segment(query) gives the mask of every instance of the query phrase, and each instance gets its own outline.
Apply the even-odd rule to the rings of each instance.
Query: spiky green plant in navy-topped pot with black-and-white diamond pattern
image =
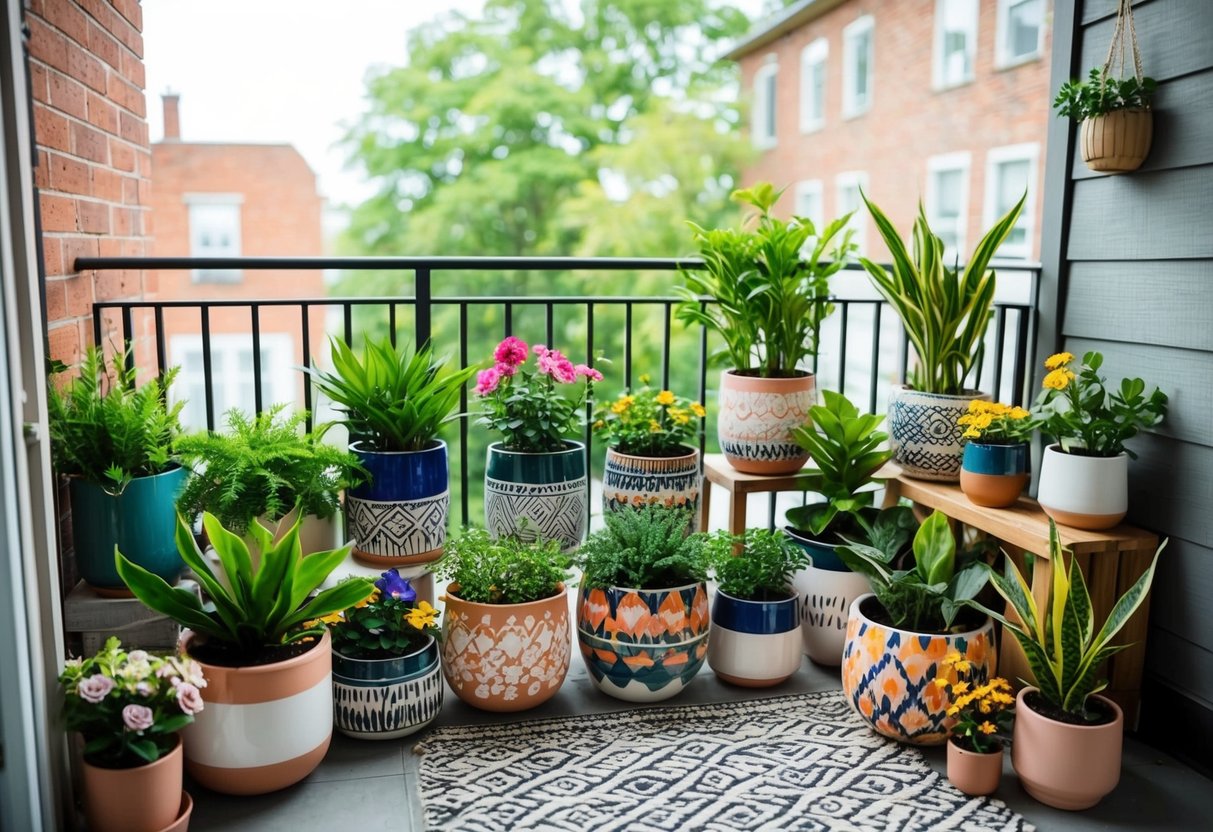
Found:
[[[370,480],[346,494],[354,558],[371,566],[412,566],[442,557],[450,512],[450,466],[438,431],[451,418],[475,367],[446,372],[427,344],[410,355],[388,338],[361,359],[332,338],[332,372],[307,370],[344,411],[349,449]]]

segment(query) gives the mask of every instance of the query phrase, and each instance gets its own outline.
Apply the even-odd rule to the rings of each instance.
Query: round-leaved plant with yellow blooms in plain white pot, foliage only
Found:
[[[1157,387],[1147,397],[1140,378],[1122,378],[1118,391],[1109,391],[1099,375],[1104,357],[1089,352],[1078,372],[1070,369],[1074,355],[1049,355],[1044,389],[1032,405],[1041,431],[1057,439],[1065,454],[1117,456],[1137,454],[1124,443],[1143,428],[1160,424],[1167,416],[1167,394]]]

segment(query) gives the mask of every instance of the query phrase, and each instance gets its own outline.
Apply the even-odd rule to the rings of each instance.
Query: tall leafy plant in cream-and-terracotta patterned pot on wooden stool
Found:
[[[821,321],[833,312],[830,278],[855,249],[853,232],[836,239],[849,213],[820,233],[804,217],[771,216],[782,193],[768,182],[733,192],[734,201],[757,209],[741,228],[689,223],[704,268],[684,272],[679,290],[679,319],[724,338],[712,357],[731,365],[721,376],[721,450],[752,474],[792,473],[808,458],[788,435],[815,398],[814,375],[799,364],[816,354]]]

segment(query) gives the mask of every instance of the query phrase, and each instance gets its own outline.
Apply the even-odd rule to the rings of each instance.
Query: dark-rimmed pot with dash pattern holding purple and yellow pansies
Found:
[[[420,731],[443,707],[438,643],[394,659],[332,651],[332,724],[357,740],[394,740]]]

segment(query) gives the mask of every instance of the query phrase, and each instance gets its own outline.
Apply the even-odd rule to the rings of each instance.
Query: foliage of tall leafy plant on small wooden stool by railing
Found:
[[[795,376],[797,364],[816,354],[821,321],[833,312],[830,278],[855,250],[854,232],[843,232],[849,213],[819,233],[805,217],[771,216],[782,193],[769,182],[733,192],[734,201],[757,209],[740,228],[689,222],[704,268],[683,272],[678,290],[679,320],[724,338],[712,361],[764,378]],[[813,237],[811,251],[802,253]]]

